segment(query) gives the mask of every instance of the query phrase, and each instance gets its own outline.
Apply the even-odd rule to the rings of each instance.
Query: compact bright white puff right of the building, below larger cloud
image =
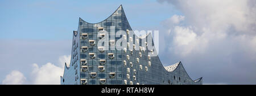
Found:
[[[170,50],[174,51],[175,54],[186,56],[192,51],[202,53],[205,50],[205,46],[207,46],[208,41],[197,36],[191,27],[176,26],[174,27],[173,32],[173,46]],[[200,49],[198,46],[200,46]]]

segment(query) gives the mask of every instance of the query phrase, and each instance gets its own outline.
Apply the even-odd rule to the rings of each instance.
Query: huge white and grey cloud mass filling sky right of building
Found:
[[[192,77],[198,73],[209,84],[256,83],[251,74],[256,72],[254,0],[158,1],[174,5],[184,15],[162,24],[167,28],[165,40],[172,40],[167,45],[172,59],[188,63]]]

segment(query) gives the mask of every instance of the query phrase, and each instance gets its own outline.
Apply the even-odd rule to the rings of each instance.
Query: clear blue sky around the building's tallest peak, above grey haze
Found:
[[[71,30],[77,29],[79,18],[90,23],[100,22],[121,4],[125,4],[127,18],[134,28],[150,28],[178,14],[178,11],[167,12],[171,6],[156,1],[1,1],[0,38],[70,40]]]

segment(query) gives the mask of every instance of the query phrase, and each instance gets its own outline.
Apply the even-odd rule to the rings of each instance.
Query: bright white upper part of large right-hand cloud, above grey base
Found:
[[[159,2],[164,1],[159,0]],[[202,50],[213,46],[209,43],[219,43],[225,40],[237,41],[239,42],[237,45],[250,47],[250,51],[255,53],[255,1],[185,0],[167,2],[176,6],[184,14],[184,16],[173,15],[163,21],[163,24],[169,28],[166,32],[168,35],[172,34],[174,40],[171,51],[179,49],[175,51],[177,53],[188,51],[186,54],[189,55],[189,50]],[[184,24],[180,25],[180,21],[184,21]],[[242,38],[242,40],[237,38]],[[250,45],[246,42],[249,42]],[[179,47],[180,45],[183,47]]]

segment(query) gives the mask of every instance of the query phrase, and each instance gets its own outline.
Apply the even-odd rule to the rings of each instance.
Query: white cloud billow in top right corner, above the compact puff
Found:
[[[163,2],[165,0],[159,0]],[[254,0],[195,0],[167,1],[181,10],[187,23],[213,32],[226,32],[230,27],[237,32],[255,34],[256,6]],[[250,6],[251,5],[251,6]]]

